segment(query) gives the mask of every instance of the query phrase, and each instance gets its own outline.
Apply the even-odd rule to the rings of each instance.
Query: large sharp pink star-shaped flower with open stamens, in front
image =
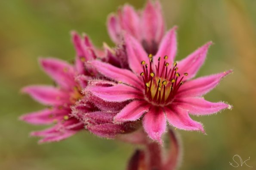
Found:
[[[174,62],[176,27],[167,32],[154,56],[147,55],[142,45],[128,33],[125,34],[125,44],[132,71],[101,61],[89,62],[99,73],[118,84],[89,86],[88,93],[106,102],[130,102],[117,113],[114,122],[137,121],[143,117],[142,124],[148,136],[162,143],[167,121],[179,129],[204,133],[203,125],[192,120],[189,113],[208,115],[231,109],[226,103],[212,103],[202,97],[231,70],[191,80],[204,63],[211,42],[179,62]]]

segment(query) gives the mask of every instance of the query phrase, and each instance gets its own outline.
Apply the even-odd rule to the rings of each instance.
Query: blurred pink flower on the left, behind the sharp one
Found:
[[[49,129],[31,133],[32,136],[43,138],[39,143],[63,140],[83,129],[83,121],[71,115],[71,106],[80,100],[83,96],[81,90],[96,73],[93,68],[84,67],[85,61],[94,60],[102,56],[103,52],[93,47],[88,36],[81,39],[75,32],[72,32],[72,36],[77,52],[74,65],[54,58],[40,59],[43,70],[56,82],[57,87],[31,85],[22,89],[34,100],[50,106],[20,117],[21,120],[31,124],[54,124]],[[97,108],[90,103],[86,104],[86,109],[88,112],[97,111]]]

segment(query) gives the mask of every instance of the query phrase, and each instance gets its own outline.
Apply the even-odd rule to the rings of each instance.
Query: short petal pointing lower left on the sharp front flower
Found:
[[[145,112],[148,112],[149,104],[145,101],[134,100],[127,104],[117,115],[114,117],[114,121],[136,121]]]

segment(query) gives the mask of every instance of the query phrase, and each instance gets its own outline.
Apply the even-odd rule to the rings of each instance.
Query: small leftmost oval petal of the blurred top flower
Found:
[[[108,16],[107,21],[108,34],[114,43],[119,43],[121,40],[121,28],[117,17],[114,14]]]

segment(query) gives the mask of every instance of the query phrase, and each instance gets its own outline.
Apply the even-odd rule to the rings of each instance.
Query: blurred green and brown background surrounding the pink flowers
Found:
[[[0,1],[0,169],[124,170],[133,146],[81,132],[59,143],[37,144],[28,137],[43,129],[18,121],[43,106],[20,89],[52,84],[37,58],[74,58],[70,31],[87,33],[96,46],[111,46],[105,23],[108,13],[125,0]],[[161,0],[167,28],[178,25],[181,59],[212,40],[198,76],[234,69],[205,98],[234,106],[217,115],[193,117],[208,135],[179,131],[183,140],[180,170],[250,170],[256,168],[256,0]],[[137,9],[144,0],[130,0]],[[231,167],[238,154],[253,168]],[[239,160],[237,159],[237,162]],[[235,164],[236,165],[236,164]]]

